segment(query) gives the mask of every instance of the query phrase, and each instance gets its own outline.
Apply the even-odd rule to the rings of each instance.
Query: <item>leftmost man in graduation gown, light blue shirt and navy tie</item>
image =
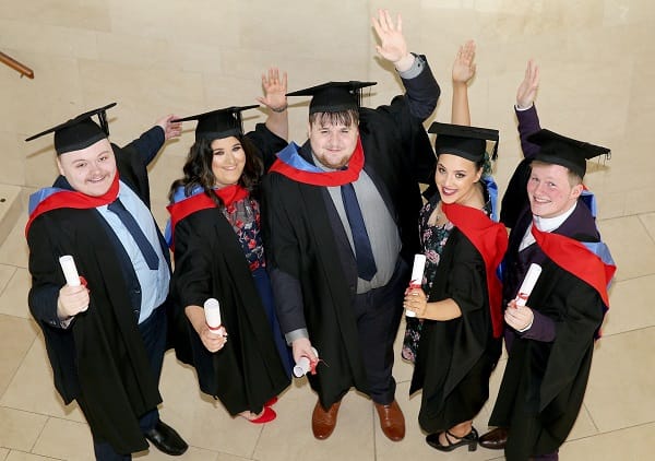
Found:
[[[147,449],[146,439],[182,454],[187,444],[157,410],[170,264],[150,212],[146,169],[181,127],[165,117],[121,149],[107,138],[114,105],[31,138],[55,132],[61,176],[29,199],[29,311],[44,332],[55,387],[64,403],[80,404],[96,459],[131,459]],[[58,260],[64,255],[83,284],[67,284]]]

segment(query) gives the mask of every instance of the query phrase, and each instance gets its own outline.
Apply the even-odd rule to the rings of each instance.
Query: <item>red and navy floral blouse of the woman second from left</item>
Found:
[[[261,236],[261,213],[260,205],[257,200],[247,197],[243,200],[236,201],[228,206],[225,206],[223,214],[231,224],[250,271],[254,272],[259,268],[266,265],[264,260],[264,246]]]

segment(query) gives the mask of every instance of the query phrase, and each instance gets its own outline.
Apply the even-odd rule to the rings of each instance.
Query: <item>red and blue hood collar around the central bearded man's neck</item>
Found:
[[[359,178],[365,159],[361,138],[357,138],[357,145],[353,151],[347,168],[337,172],[323,172],[306,159],[301,151],[308,149],[307,145],[299,147],[295,142],[290,142],[277,154],[277,159],[269,172],[279,173],[297,182],[311,186],[342,186],[354,182]]]

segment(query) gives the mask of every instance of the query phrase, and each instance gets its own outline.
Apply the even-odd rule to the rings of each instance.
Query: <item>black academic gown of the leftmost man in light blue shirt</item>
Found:
[[[164,135],[154,128],[144,137],[112,149],[121,180],[150,205],[146,164]],[[63,177],[55,187],[70,189]],[[122,454],[147,449],[139,418],[162,398],[138,328],[139,283],[127,252],[95,209],[64,208],[39,215],[27,244],[28,304],[44,332],[55,387],[67,404],[80,401],[94,438]],[[163,250],[168,256],[165,246]],[[66,285],[59,265],[63,255],[73,256],[91,289],[88,310],[68,329],[59,328],[57,318],[57,297]]]

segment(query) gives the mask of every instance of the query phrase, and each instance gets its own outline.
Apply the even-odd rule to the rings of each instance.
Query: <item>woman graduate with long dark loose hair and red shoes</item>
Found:
[[[241,111],[229,107],[180,120],[199,120],[184,177],[170,190],[171,294],[178,358],[195,367],[200,389],[231,415],[252,423],[275,418],[270,406],[290,382],[290,353],[277,322],[260,233],[259,185],[264,165],[286,146],[286,74],[263,79],[271,110],[243,133]],[[223,327],[205,322],[215,298]]]

